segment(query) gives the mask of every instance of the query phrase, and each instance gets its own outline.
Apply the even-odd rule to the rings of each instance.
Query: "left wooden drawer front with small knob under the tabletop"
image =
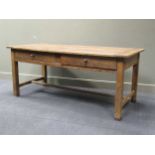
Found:
[[[60,56],[48,53],[15,52],[15,60],[36,64],[60,66]]]

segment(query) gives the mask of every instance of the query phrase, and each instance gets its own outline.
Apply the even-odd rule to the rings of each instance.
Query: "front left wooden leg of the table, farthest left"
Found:
[[[11,60],[12,60],[13,94],[14,96],[20,96],[18,62],[15,61],[14,59],[14,52],[11,52]]]

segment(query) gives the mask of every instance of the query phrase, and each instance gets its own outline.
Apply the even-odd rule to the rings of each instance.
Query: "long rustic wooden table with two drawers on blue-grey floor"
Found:
[[[8,48],[11,48],[13,93],[15,96],[20,95],[21,86],[30,83],[46,86],[47,66],[51,66],[116,72],[114,117],[117,120],[121,119],[124,105],[129,101],[136,102],[139,57],[140,52],[144,51],[141,48],[50,44],[16,45]],[[40,64],[42,77],[19,83],[18,62]],[[128,96],[123,96],[124,71],[129,67],[133,68],[131,92]]]

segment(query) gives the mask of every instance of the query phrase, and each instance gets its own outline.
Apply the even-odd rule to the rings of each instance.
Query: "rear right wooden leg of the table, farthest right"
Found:
[[[138,70],[139,70],[139,61],[136,65],[133,66],[132,70],[132,86],[131,91],[134,90],[134,95],[131,99],[132,102],[136,102],[137,97],[137,85],[138,85]]]

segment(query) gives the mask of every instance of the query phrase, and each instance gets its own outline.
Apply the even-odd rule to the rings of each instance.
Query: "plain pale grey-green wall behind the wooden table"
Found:
[[[10,52],[6,49],[10,44],[42,42],[140,47],[145,52],[140,59],[139,83],[154,86],[154,40],[155,20],[0,20],[0,75],[4,78],[11,72]],[[22,64],[20,72],[38,75],[40,68]],[[127,71],[126,81],[130,81],[130,73],[130,70]],[[115,79],[112,73],[69,69],[49,69],[49,74],[84,79]],[[73,81],[68,83],[73,84]],[[79,82],[77,84],[80,85]],[[87,82],[86,85],[98,84]]]

